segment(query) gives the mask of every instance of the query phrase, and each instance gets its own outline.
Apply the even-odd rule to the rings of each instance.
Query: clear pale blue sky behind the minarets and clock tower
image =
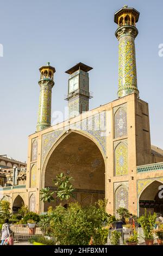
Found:
[[[162,0],[3,0],[0,8],[0,155],[27,160],[35,132],[39,67],[55,66],[52,112],[64,111],[68,75],[78,62],[93,67],[90,109],[117,98],[118,41],[114,13],[124,4],[140,11],[135,40],[140,97],[149,103],[151,141],[163,148]]]

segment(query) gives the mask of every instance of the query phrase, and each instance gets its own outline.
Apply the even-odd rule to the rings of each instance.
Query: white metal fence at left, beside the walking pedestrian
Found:
[[[37,235],[45,235],[48,230],[48,225],[36,224],[35,228],[29,228],[28,224],[12,224],[10,225],[12,237],[15,241],[27,241],[30,237]],[[2,231],[0,232],[1,235]]]

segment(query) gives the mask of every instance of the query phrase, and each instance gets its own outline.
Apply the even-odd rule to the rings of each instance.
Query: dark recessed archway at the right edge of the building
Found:
[[[145,212],[156,212],[163,214],[163,198],[160,197],[160,186],[163,185],[160,181],[154,180],[145,190],[142,191],[139,198],[139,215]]]

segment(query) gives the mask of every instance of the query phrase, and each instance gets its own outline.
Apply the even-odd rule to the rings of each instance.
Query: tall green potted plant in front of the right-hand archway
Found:
[[[154,236],[153,236],[153,228],[155,224],[156,213],[152,215],[150,212],[147,214],[147,210],[145,209],[145,214],[142,215],[138,222],[141,224],[143,229],[143,233],[145,235],[146,245],[153,245]]]

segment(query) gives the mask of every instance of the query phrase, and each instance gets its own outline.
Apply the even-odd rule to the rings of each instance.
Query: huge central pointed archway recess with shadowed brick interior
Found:
[[[73,177],[74,195],[79,203],[85,202],[85,206],[92,202],[92,198],[93,202],[104,198],[105,163],[103,155],[96,143],[84,134],[73,131],[66,133],[63,139],[60,138],[57,147],[54,145],[54,149],[47,157],[43,169],[42,187],[51,187],[51,190],[54,190],[52,179],[57,174],[64,173]],[[49,204],[42,205],[41,211],[47,211],[48,206]]]

